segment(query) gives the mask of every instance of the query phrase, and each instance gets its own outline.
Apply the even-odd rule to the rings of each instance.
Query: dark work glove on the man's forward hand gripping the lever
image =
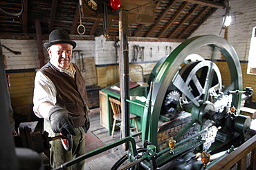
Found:
[[[55,133],[62,133],[67,136],[68,134],[76,135],[73,122],[68,115],[68,111],[60,106],[55,106],[50,109],[48,120],[51,121],[51,129]]]

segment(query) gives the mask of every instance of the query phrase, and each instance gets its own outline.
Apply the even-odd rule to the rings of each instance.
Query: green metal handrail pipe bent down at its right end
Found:
[[[86,153],[82,156],[79,156],[77,158],[75,158],[74,160],[71,160],[71,161],[68,161],[64,164],[62,164],[60,167],[57,167],[55,170],[57,169],[66,169],[66,167],[70,167],[71,165],[73,164],[76,164],[77,162],[80,162],[82,160],[85,160],[86,158],[90,158],[92,156],[95,156],[99,153],[102,153],[104,151],[107,151],[109,149],[112,149],[113,147],[117,147],[119,145],[122,145],[123,143],[126,143],[126,142],[131,142],[131,151],[133,153],[134,156],[138,155],[138,151],[136,149],[136,141],[133,137],[131,136],[128,136],[127,138],[122,138],[116,142],[113,142],[109,145],[105,145],[104,147],[100,147],[98,149],[95,149],[93,151],[90,151],[89,153]]]

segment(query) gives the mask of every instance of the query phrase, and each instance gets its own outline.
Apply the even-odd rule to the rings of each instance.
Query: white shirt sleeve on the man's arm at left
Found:
[[[33,111],[35,115],[39,118],[44,118],[43,114],[39,111],[39,106],[42,103],[52,103],[55,105],[56,103],[56,88],[53,82],[48,76],[38,71],[35,75],[35,88],[33,95]],[[44,113],[44,115],[48,115],[48,113]]]

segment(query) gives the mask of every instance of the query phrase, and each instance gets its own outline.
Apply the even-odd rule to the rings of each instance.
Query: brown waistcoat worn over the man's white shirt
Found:
[[[63,107],[73,120],[74,127],[82,127],[85,124],[89,129],[89,109],[87,107],[87,93],[84,78],[77,65],[75,67],[75,79],[64,72],[60,72],[51,63],[47,63],[40,71],[53,81],[57,89],[56,105]]]

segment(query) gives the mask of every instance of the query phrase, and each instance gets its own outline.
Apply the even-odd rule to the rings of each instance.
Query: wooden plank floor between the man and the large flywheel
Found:
[[[100,113],[98,109],[92,111],[90,120],[91,127],[85,137],[86,152],[93,151],[120,139],[120,131],[115,131],[114,137],[111,138],[111,136],[109,136],[108,130],[100,125]],[[138,140],[138,138],[135,139],[137,147],[142,147],[141,140]],[[104,153],[100,153],[96,156],[86,159],[85,169],[111,169],[113,164],[126,153],[127,151],[125,151],[122,145],[113,149],[109,149]]]

